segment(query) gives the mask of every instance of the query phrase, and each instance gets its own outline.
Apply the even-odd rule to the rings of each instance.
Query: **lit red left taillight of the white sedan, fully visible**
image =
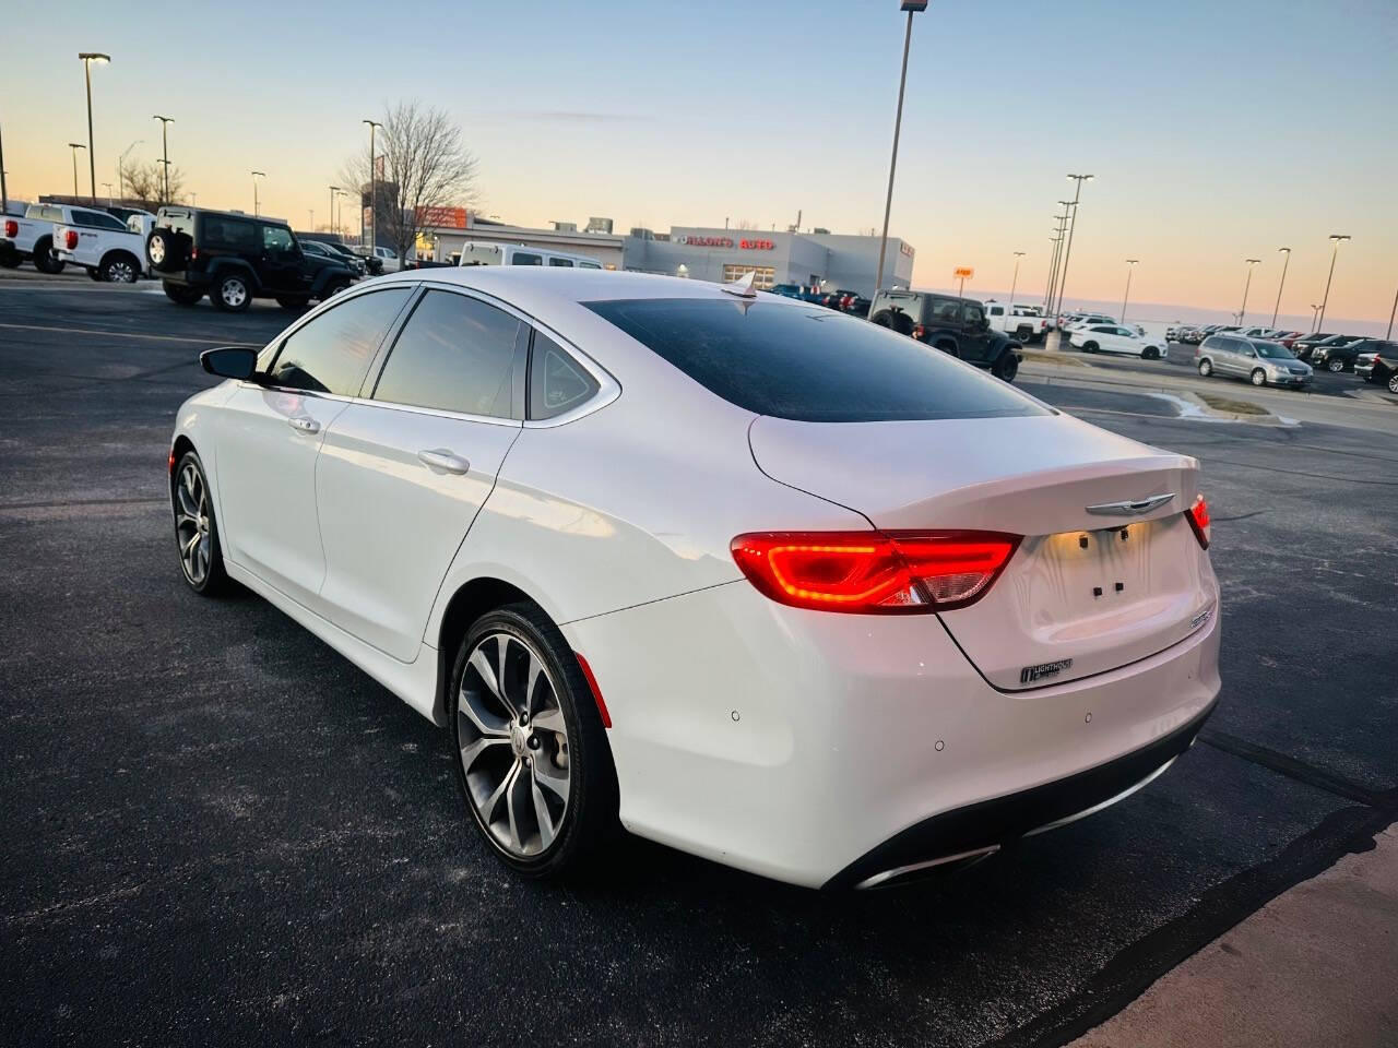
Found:
[[[738,535],[731,549],[779,604],[888,615],[980,599],[1018,545],[1016,535],[990,531],[776,531]]]

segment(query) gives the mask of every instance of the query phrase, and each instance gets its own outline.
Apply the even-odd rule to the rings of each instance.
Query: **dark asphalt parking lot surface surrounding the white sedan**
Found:
[[[200,349],[288,316],[0,286],[0,1044],[1061,1044],[1398,816],[1398,437],[1036,395],[1202,461],[1225,690],[1120,805],[959,875],[773,885],[475,837],[438,729],[173,556]]]

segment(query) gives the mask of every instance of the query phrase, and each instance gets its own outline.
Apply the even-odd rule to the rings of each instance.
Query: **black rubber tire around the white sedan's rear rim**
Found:
[[[467,780],[461,759],[461,732],[474,732],[471,720],[460,708],[461,683],[471,653],[482,641],[489,646],[488,637],[492,634],[513,636],[538,653],[551,681],[556,682],[558,708],[566,725],[568,802],[552,841],[534,855],[513,854],[496,840],[475,801],[473,801],[473,785]],[[507,672],[509,665],[506,665]],[[617,771],[611,759],[611,748],[607,743],[607,732],[597,713],[597,704],[593,701],[591,689],[577,664],[577,657],[563,640],[558,626],[538,606],[527,602],[510,604],[477,619],[457,648],[452,667],[450,689],[447,732],[452,739],[452,752],[456,755],[452,764],[456,769],[457,788],[481,837],[505,865],[530,878],[556,876],[577,869],[596,854],[600,845],[617,834],[619,827]],[[500,710],[505,711],[506,707],[502,704]],[[533,732],[530,734],[533,735]],[[470,745],[470,735],[467,745]],[[534,750],[535,755],[540,752],[547,750]],[[538,826],[537,816],[535,826]]]

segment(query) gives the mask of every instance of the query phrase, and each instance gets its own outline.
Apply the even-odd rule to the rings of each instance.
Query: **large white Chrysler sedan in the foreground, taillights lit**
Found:
[[[521,873],[619,824],[889,883],[1120,799],[1213,708],[1198,461],[863,320],[435,268],[203,362],[185,581],[253,590],[442,725]]]

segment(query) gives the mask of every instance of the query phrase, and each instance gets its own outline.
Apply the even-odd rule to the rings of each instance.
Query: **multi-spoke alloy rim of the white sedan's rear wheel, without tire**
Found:
[[[568,724],[542,655],[512,633],[471,651],[457,696],[466,792],[495,844],[516,858],[558,838],[572,788]]]

